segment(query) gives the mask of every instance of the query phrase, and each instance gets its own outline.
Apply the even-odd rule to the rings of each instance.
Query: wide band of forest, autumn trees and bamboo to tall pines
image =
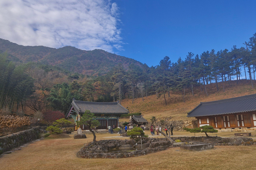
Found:
[[[182,60],[171,62],[168,56],[159,65],[148,67],[130,64],[125,69],[122,63],[112,67],[105,75],[89,77],[78,73],[61,72],[40,63],[20,64],[0,54],[0,109],[44,112],[46,110],[66,113],[72,99],[94,102],[113,102],[148,95],[170,96],[176,91],[184,98],[184,89],[194,87],[207,93],[207,84],[215,83],[216,91],[223,89],[230,80],[237,84],[241,75],[254,86],[256,71],[256,34],[245,42],[245,47],[233,46],[231,50],[189,52]],[[165,100],[166,103],[166,100]],[[166,103],[167,104],[167,103]]]

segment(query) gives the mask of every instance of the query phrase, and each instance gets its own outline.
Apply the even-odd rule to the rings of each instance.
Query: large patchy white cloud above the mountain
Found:
[[[107,0],[0,1],[0,38],[21,45],[122,50],[119,8]]]

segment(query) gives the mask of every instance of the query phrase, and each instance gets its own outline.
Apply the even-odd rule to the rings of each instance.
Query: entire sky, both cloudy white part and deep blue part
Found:
[[[1,0],[0,38],[103,49],[148,66],[231,50],[256,33],[255,0]]]

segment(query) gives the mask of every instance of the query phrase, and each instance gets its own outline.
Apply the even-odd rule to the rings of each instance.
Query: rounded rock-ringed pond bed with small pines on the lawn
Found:
[[[140,141],[136,143],[132,139],[100,140],[85,144],[77,156],[81,158],[125,158],[158,152],[168,147],[172,147],[172,143],[166,138],[143,138],[142,149]]]

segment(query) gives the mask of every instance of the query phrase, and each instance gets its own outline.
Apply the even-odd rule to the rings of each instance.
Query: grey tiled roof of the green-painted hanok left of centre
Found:
[[[105,114],[105,115],[119,115],[128,114],[129,111],[125,109],[118,102],[84,102],[73,99],[72,106],[78,112],[84,113],[86,110],[91,111],[93,114]]]

